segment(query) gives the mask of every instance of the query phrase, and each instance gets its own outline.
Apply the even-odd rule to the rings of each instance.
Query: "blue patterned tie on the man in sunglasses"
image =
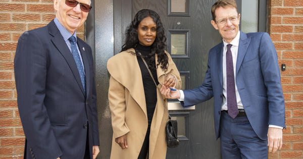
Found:
[[[72,55],[74,57],[74,60],[76,62],[76,65],[77,65],[77,68],[78,68],[78,72],[79,72],[79,75],[80,75],[80,79],[81,79],[81,83],[82,83],[82,86],[83,86],[83,89],[84,89],[84,92],[85,92],[85,75],[84,75],[84,69],[83,69],[83,65],[82,65],[82,62],[81,62],[81,59],[80,59],[80,56],[78,54],[78,49],[77,49],[77,45],[76,45],[76,38],[74,36],[71,36],[69,38],[72,46]]]

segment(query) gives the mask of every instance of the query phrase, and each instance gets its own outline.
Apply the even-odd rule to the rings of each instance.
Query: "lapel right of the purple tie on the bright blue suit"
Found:
[[[239,40],[238,56],[237,56],[237,64],[236,64],[236,76],[243,62],[244,56],[246,54],[246,50],[250,43],[250,39],[251,39],[250,37],[247,38],[247,35],[245,33],[240,32],[240,40]]]

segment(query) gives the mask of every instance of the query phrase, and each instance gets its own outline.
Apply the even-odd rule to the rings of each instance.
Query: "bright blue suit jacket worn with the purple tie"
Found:
[[[184,106],[214,97],[217,139],[223,100],[223,42],[209,51],[203,84],[184,90]],[[277,52],[267,33],[240,32],[236,63],[236,85],[249,123],[260,139],[267,139],[268,125],[285,128],[285,103],[281,88]]]

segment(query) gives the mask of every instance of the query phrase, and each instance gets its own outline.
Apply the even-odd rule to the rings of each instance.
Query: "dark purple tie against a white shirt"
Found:
[[[235,78],[233,70],[233,62],[230,47],[232,45],[227,45],[226,51],[226,86],[227,86],[227,111],[228,115],[231,118],[236,118],[238,115],[238,106],[236,98],[236,87],[235,87]]]

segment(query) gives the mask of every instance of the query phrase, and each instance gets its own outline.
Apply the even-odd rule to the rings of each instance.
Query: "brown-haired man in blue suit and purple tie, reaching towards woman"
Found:
[[[186,107],[214,97],[217,139],[223,158],[267,158],[282,147],[285,104],[275,47],[267,33],[239,31],[240,14],[234,0],[212,7],[215,29],[223,41],[208,55],[203,84],[190,90],[170,91]]]

